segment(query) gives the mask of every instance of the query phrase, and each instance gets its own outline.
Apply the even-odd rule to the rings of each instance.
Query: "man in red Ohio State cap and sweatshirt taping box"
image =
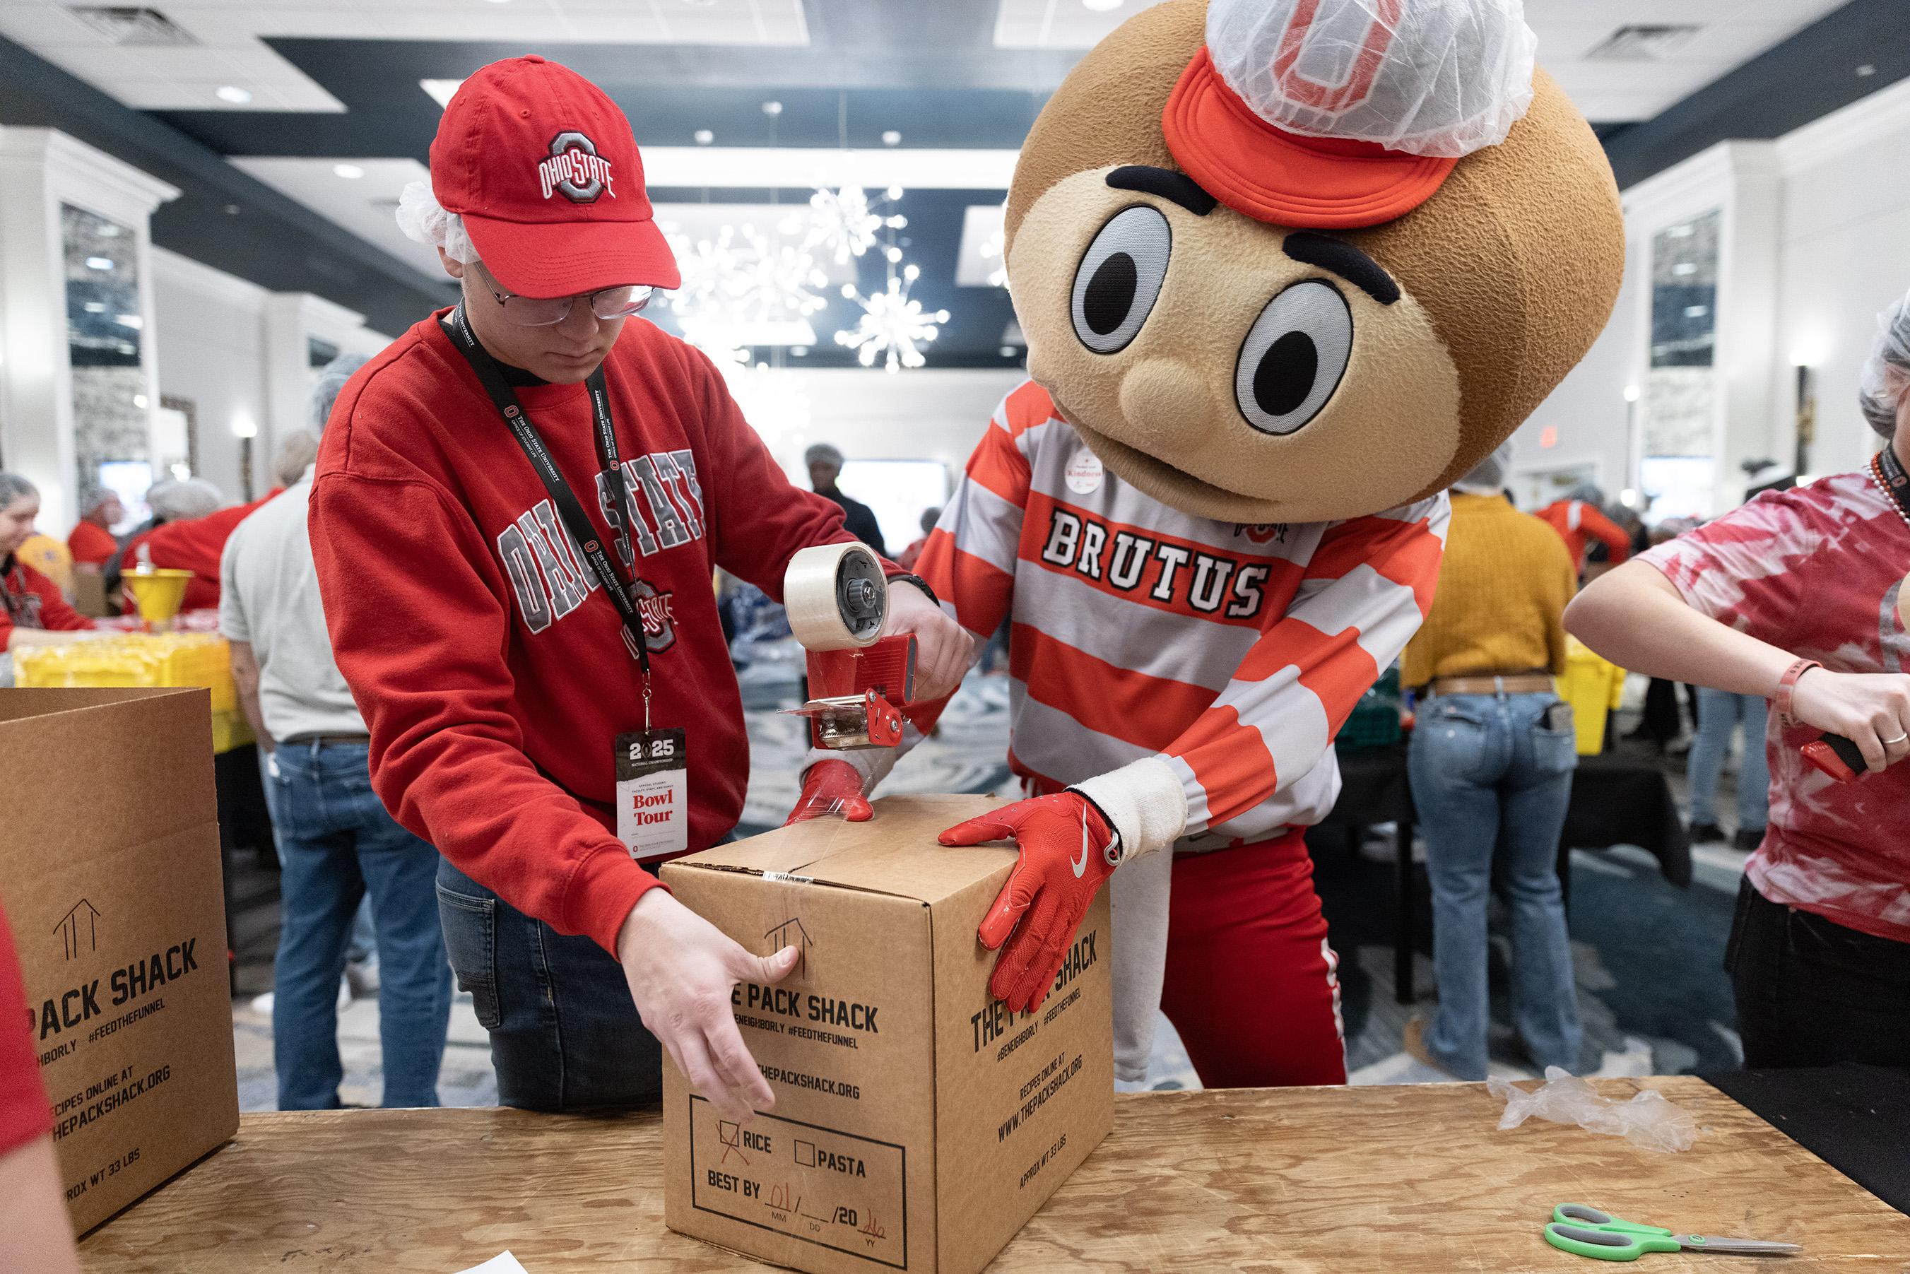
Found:
[[[541,57],[468,78],[399,220],[464,298],[346,386],[311,495],[372,785],[443,854],[445,947],[504,1104],[655,1100],[661,1041],[747,1117],[774,1096],[730,987],[796,953],[751,955],[646,867],[743,806],[711,573],[779,598],[791,554],[848,539],[842,510],[789,485],[709,359],[628,323],[678,273],[630,126],[588,80]],[[926,584],[890,596],[923,693],[945,693],[966,634]]]

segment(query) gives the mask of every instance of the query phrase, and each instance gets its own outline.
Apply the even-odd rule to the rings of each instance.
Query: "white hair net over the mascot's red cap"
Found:
[[[1268,124],[1461,157],[1532,105],[1522,0],[1213,0],[1207,52]]]

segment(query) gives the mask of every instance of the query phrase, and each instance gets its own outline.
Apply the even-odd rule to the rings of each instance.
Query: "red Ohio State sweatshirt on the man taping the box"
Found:
[[[644,726],[617,607],[563,533],[434,315],[361,369],[332,411],[311,550],[338,669],[371,728],[372,787],[405,827],[520,911],[615,951],[657,881],[615,837],[615,735]],[[711,573],[781,600],[783,567],[848,539],[796,491],[701,353],[632,319],[605,361],[634,533],[653,724],[690,732],[690,848],[743,808],[749,741]],[[584,386],[518,397],[600,527]],[[628,552],[628,541],[619,544]],[[626,558],[628,560],[628,558]]]

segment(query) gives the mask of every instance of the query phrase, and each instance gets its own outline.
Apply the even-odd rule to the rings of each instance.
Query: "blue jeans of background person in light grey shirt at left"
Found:
[[[338,978],[359,900],[378,938],[384,1104],[435,1106],[451,1024],[451,966],[432,882],[437,850],[399,827],[371,791],[363,743],[281,743],[279,963],[271,1035],[281,1110],[338,1106]]]

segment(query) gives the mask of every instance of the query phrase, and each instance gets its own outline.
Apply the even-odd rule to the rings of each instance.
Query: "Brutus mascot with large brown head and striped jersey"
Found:
[[[1518,0],[1167,0],[1035,120],[1007,235],[1029,384],[917,567],[1012,623],[1029,798],[942,837],[1020,844],[991,991],[1037,1007],[1112,879],[1119,1079],[1159,1007],[1209,1087],[1341,1083],[1303,831],[1446,485],[1610,313],[1612,172]],[[796,816],[867,817],[884,764],[816,756]]]

